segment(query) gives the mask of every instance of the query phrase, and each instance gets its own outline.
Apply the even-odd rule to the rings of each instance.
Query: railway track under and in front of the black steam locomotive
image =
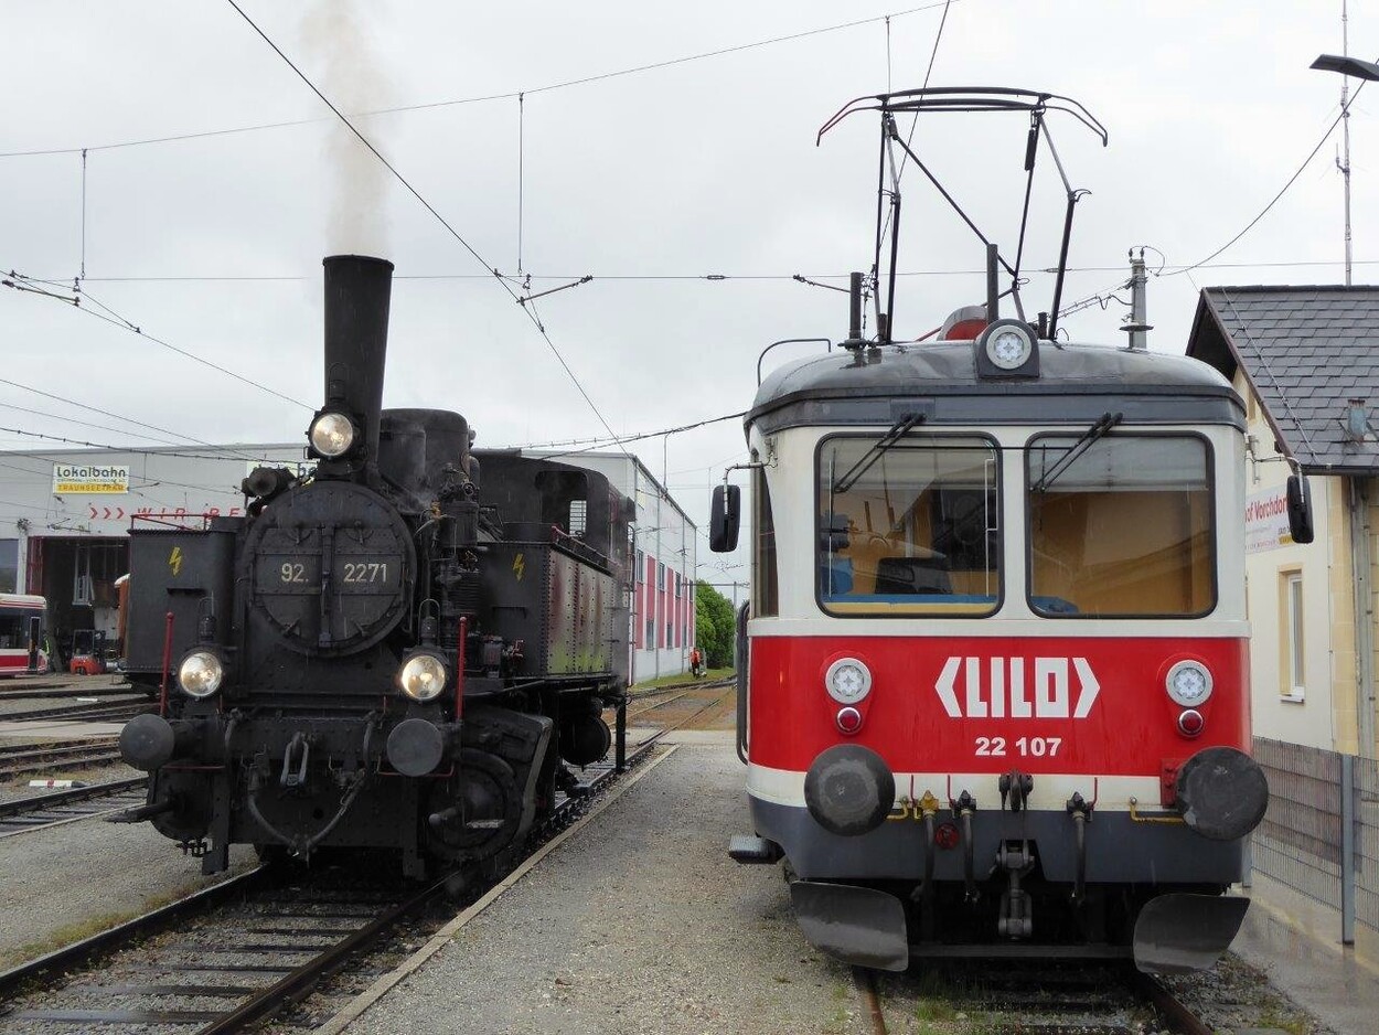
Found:
[[[632,745],[627,769],[672,729],[714,704]],[[528,851],[575,822],[619,776],[611,762],[587,766],[583,774],[576,796],[563,798],[528,836]],[[298,871],[291,882],[284,872],[291,868],[259,867],[0,974],[0,1025],[43,1035],[98,1025],[120,1025],[121,1031],[175,1025],[197,1035],[243,1031],[303,999],[345,960],[386,954],[385,943],[400,925],[421,926],[426,934],[455,912],[456,874],[405,896],[386,896],[379,889],[397,887],[390,865],[386,876],[367,883],[360,882],[353,857],[338,871]],[[485,890],[487,882],[465,887],[463,901]],[[143,951],[108,960],[112,949],[150,937]],[[274,1027],[281,1024],[274,1021]]]

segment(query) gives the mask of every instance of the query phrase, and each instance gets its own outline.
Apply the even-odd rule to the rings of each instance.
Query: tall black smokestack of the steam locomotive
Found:
[[[328,255],[325,266],[325,400],[361,422],[368,464],[378,461],[393,264],[368,255]]]

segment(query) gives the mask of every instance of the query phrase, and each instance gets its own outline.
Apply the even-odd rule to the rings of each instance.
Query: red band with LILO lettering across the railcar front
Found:
[[[1244,639],[785,638],[752,642],[750,759],[805,770],[855,741],[896,771],[1157,776],[1211,745],[1249,751]],[[838,731],[825,690],[833,661],[872,671],[862,729]],[[1194,658],[1214,678],[1205,727],[1178,731],[1168,668]]]

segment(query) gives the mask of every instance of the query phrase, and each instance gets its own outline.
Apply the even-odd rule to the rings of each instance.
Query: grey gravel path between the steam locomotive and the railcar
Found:
[[[728,858],[750,831],[732,734],[683,740],[346,1032],[870,1031],[779,867]]]

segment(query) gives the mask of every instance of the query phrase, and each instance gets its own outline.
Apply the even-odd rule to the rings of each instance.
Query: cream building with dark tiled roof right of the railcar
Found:
[[[1247,404],[1255,736],[1373,758],[1379,671],[1379,287],[1208,287],[1187,355]],[[1316,541],[1270,527],[1309,476]],[[1229,516],[1225,516],[1230,519]]]

